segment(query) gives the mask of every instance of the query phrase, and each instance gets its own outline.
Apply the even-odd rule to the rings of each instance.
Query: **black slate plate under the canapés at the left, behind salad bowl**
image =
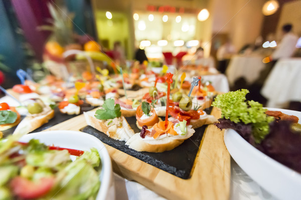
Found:
[[[89,110],[94,109],[94,108],[95,108],[95,106],[92,106],[92,105],[90,105],[90,104],[84,102],[84,103],[81,105],[81,114],[82,114],[83,112],[85,112],[85,111],[89,111]],[[32,132],[40,132],[40,131],[45,130],[45,129],[47,129],[47,128],[51,127],[51,126],[54,126],[54,125],[56,125],[56,124],[58,124],[58,123],[61,123],[61,122],[66,121],[66,120],[68,120],[68,119],[71,119],[71,118],[73,118],[73,117],[75,117],[75,116],[77,116],[77,115],[76,115],[76,114],[73,114],[73,115],[63,114],[63,113],[60,112],[59,108],[56,107],[56,108],[54,108],[54,117],[53,117],[52,119],[50,119],[50,120],[48,121],[48,123],[43,124],[41,127],[35,129],[35,130],[32,131]],[[22,117],[21,117],[21,120],[22,120],[24,117],[25,117],[25,116],[22,116]],[[7,129],[7,130],[2,131],[2,132],[3,132],[3,136],[6,137],[6,136],[8,136],[8,135],[10,135],[10,134],[13,134],[13,132],[14,132],[15,129],[16,129],[16,127],[17,127],[17,126],[14,126],[14,127],[10,128],[10,129]],[[31,133],[32,133],[32,132],[31,132]]]

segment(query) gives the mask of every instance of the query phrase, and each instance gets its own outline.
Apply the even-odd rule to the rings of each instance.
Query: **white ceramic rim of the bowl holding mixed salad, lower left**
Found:
[[[47,145],[54,144],[55,146],[65,148],[79,150],[90,150],[91,147],[96,148],[102,163],[102,169],[99,175],[101,185],[96,199],[115,199],[111,159],[105,146],[97,137],[88,133],[73,130],[52,130],[27,134],[22,136],[19,141],[27,142],[32,138],[39,139],[40,142]]]

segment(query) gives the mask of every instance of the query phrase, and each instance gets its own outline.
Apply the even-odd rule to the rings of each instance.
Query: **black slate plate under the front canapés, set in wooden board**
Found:
[[[207,109],[206,112],[209,114],[211,113],[211,110],[212,107]],[[136,126],[136,118],[134,116],[126,117],[126,120],[133,128],[134,132],[140,132],[140,129],[138,129]],[[128,148],[124,141],[112,139],[103,132],[100,132],[91,126],[85,126],[81,129],[81,131],[92,134],[99,138],[102,142],[148,164],[158,167],[180,178],[188,179],[190,177],[193,163],[206,127],[207,125],[196,128],[196,132],[193,134],[193,136],[185,140],[181,145],[173,150],[162,153],[135,151],[131,148]]]

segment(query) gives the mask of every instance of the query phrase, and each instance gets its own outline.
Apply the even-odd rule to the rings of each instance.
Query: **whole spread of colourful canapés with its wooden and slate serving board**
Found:
[[[220,111],[210,106],[218,92],[200,76],[188,82],[186,73],[174,76],[163,69],[129,75],[121,68],[112,75],[100,69],[100,74],[85,73],[72,81],[48,76],[9,92],[28,111],[23,115],[26,123],[19,125],[31,125],[27,118],[50,111],[54,114],[35,131],[74,130],[97,137],[110,154],[114,172],[127,179],[167,198],[227,199],[230,155],[223,132],[214,126]],[[132,76],[138,78],[130,81]],[[4,135],[24,135],[34,128],[16,130]],[[192,188],[196,192],[189,192]]]

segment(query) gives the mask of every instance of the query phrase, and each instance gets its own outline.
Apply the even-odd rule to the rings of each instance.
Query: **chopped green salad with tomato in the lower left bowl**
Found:
[[[96,148],[82,151],[18,139],[0,140],[0,200],[96,198],[101,168]]]

